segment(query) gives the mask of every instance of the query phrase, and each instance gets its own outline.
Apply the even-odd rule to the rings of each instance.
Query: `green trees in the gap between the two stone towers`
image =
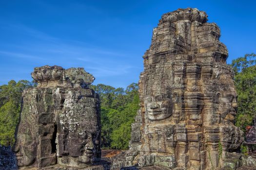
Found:
[[[131,124],[139,109],[138,84],[126,90],[109,85],[91,85],[101,101],[102,148],[128,149]]]

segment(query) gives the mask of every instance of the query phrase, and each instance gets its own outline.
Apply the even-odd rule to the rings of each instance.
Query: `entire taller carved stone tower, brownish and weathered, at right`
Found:
[[[207,17],[196,8],[178,9],[154,28],[126,166],[210,170],[239,149],[243,133],[234,125],[237,94],[228,51]]]

